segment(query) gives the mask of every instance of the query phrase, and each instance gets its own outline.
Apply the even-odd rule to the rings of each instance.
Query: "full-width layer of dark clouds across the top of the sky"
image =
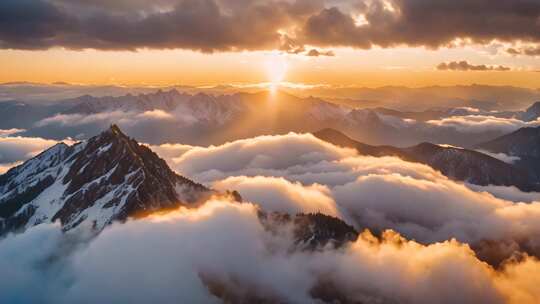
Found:
[[[279,49],[284,40],[286,49],[304,51],[436,48],[456,38],[539,43],[539,17],[538,0],[3,0],[0,47],[212,52]]]

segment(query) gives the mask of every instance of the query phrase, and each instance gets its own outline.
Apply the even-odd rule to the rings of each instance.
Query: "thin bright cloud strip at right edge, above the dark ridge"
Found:
[[[489,115],[451,116],[427,121],[427,124],[456,129],[463,133],[500,132],[511,133],[523,127],[536,127],[539,121],[525,122],[516,118],[502,118]]]

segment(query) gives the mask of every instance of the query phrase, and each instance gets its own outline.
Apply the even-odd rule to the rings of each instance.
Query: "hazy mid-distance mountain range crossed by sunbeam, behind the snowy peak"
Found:
[[[117,123],[133,137],[150,144],[210,145],[258,135],[333,128],[372,145],[404,147],[434,142],[470,148],[525,126],[538,114],[539,104],[526,111],[466,107],[398,111],[354,108],[282,91],[193,95],[170,90],[116,97],[84,95],[51,105],[3,102],[0,129],[26,129],[20,135],[57,140],[87,139]],[[460,127],[460,119],[482,127],[483,123],[474,121],[479,118],[488,125],[498,124],[472,131]],[[508,121],[492,122],[493,118]]]

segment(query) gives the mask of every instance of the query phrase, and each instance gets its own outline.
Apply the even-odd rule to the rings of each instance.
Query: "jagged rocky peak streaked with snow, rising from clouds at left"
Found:
[[[173,172],[117,126],[56,145],[0,176],[0,234],[59,221],[65,230],[192,205],[212,193]]]

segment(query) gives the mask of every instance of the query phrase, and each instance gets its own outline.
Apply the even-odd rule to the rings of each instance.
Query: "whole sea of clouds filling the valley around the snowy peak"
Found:
[[[539,296],[540,203],[532,196],[520,203],[517,189],[516,201],[497,198],[428,166],[359,156],[310,134],[152,149],[179,173],[237,190],[244,201],[212,198],[98,235],[84,225],[62,233],[55,224],[10,234],[0,240],[7,274],[0,301],[535,303]],[[341,248],[301,250],[291,224],[268,226],[261,211],[321,212],[371,232]]]

